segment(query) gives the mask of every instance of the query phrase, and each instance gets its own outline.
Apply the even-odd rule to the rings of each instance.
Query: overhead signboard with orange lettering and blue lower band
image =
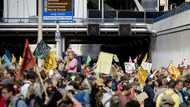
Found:
[[[73,18],[73,0],[43,0],[43,20],[68,21]]]

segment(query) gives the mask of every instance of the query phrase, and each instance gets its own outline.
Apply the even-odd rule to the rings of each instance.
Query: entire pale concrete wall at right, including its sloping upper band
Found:
[[[151,30],[157,34],[151,43],[153,68],[178,65],[184,58],[190,64],[190,10],[154,23]]]

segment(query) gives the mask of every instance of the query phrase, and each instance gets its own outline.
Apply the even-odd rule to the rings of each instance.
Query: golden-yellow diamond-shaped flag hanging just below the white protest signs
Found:
[[[147,70],[144,70],[142,67],[140,67],[139,70],[138,70],[137,76],[138,76],[140,86],[144,87],[146,78],[148,77]]]

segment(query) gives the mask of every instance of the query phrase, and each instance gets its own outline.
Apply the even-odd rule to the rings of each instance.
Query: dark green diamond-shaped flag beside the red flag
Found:
[[[34,51],[34,55],[37,59],[44,59],[47,57],[49,51],[50,47],[43,40],[41,40]]]

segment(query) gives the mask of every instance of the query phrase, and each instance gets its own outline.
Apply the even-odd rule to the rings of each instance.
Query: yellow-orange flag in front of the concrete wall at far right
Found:
[[[168,72],[170,73],[170,75],[172,76],[172,79],[174,79],[174,80],[177,80],[180,76],[179,69],[173,64],[169,64]]]

